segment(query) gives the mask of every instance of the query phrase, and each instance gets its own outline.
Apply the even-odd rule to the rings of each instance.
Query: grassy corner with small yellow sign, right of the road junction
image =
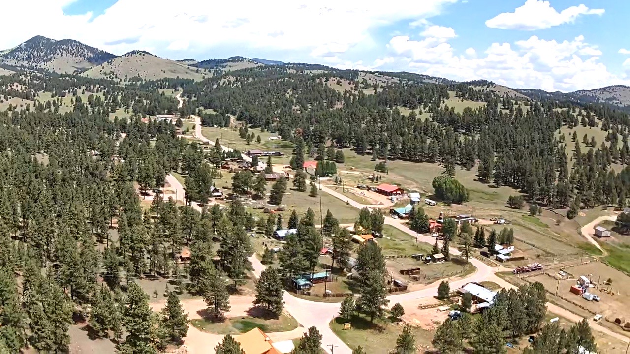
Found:
[[[347,322],[352,323],[352,328],[343,330],[343,324]],[[403,329],[402,324],[398,326],[387,320],[374,320],[374,323],[370,323],[369,318],[358,315],[353,316],[350,321],[337,317],[330,322],[330,328],[351,349],[362,346],[365,353],[388,353],[396,346],[396,338]],[[430,345],[433,338],[430,331],[412,327],[412,333],[416,345]]]

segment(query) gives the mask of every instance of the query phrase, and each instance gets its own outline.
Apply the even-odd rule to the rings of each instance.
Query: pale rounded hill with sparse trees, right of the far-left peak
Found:
[[[92,67],[88,71],[83,72],[82,75],[95,79],[105,78],[113,80],[131,79],[132,77],[140,77],[147,80],[162,79],[164,77],[202,80],[204,77],[212,76],[212,72],[174,60],[160,58],[149,52],[134,50]]]

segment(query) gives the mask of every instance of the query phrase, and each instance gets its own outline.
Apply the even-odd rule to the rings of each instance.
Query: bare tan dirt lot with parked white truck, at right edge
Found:
[[[602,314],[605,317],[630,317],[630,288],[627,287],[629,278],[621,271],[615,270],[601,262],[590,262],[566,269],[569,277],[557,280],[549,275],[541,274],[527,278],[529,282],[541,282],[547,290],[558,296],[587,309],[590,312]],[[588,292],[601,298],[600,302],[588,301],[570,292],[571,285],[575,285],[578,277],[588,277],[597,287],[589,288]],[[606,281],[610,278],[610,284]]]

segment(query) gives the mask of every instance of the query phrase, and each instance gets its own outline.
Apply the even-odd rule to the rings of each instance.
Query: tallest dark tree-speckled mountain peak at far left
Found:
[[[65,74],[83,71],[114,57],[116,55],[76,40],[37,36],[0,52],[0,64]]]

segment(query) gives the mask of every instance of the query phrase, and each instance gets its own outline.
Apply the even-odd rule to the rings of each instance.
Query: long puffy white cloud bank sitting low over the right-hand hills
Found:
[[[532,36],[515,43],[492,43],[483,57],[473,48],[457,55],[443,38],[391,38],[391,54],[377,60],[379,70],[406,70],[463,81],[488,79],[498,84],[546,91],[576,91],[629,84],[599,61],[601,51],[583,36],[556,42]],[[630,69],[630,59],[624,65]]]

